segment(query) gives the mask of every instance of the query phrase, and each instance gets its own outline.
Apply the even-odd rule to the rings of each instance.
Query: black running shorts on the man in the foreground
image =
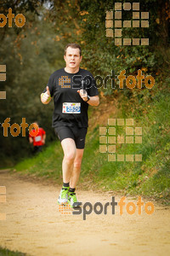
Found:
[[[85,137],[86,137],[88,128],[63,125],[59,127],[54,127],[54,131],[58,135],[60,142],[67,137],[71,137],[75,141],[77,148],[80,148],[80,149],[84,148]]]

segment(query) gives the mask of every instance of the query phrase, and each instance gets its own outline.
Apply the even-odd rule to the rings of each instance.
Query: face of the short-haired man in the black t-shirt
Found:
[[[73,49],[68,47],[66,49],[66,55],[64,55],[66,67],[73,70],[77,69],[80,66],[82,61],[82,56],[80,56],[80,50],[78,48]]]

